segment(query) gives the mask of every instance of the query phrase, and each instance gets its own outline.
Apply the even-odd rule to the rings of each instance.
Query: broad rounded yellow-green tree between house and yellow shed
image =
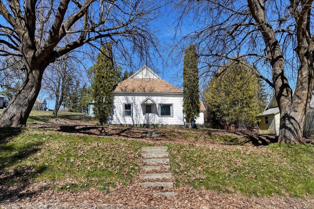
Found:
[[[209,82],[206,103],[217,120],[227,129],[254,127],[263,108],[259,102],[259,82],[256,75],[243,65],[229,62],[218,77]]]

